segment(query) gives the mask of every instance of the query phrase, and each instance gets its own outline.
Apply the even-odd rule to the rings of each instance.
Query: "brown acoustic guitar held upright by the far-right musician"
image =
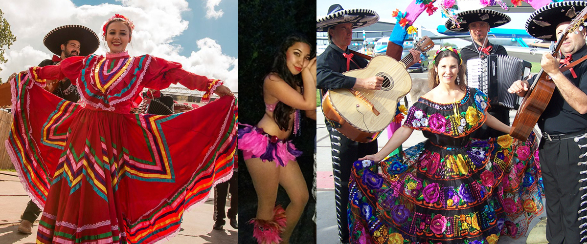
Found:
[[[579,26],[582,26],[586,18],[587,8],[584,8],[569,23],[559,40],[564,40],[566,35],[575,31]],[[552,51],[552,56],[558,53],[562,43],[562,41],[556,43],[556,47]],[[536,77],[537,79],[535,79],[534,84],[528,89],[524,99],[522,99],[522,103],[519,105],[510,130],[512,137],[522,141],[526,140],[532,132],[532,129],[534,129],[534,125],[538,122],[538,118],[544,112],[544,109],[546,109],[546,105],[548,105],[548,102],[552,98],[552,93],[556,88],[554,81],[552,81],[552,78],[544,70],[541,69]]]

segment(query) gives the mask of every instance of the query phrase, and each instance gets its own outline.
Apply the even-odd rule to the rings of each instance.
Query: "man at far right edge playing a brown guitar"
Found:
[[[539,39],[562,42],[562,59],[542,54],[540,66],[556,91],[538,119],[542,139],[538,158],[546,197],[546,239],[551,244],[585,243],[587,239],[587,30],[582,25],[565,37],[569,23],[587,2],[564,1],[546,5],[530,16],[527,32]],[[573,61],[579,64],[561,72]],[[508,89],[521,97],[533,80],[516,81]]]

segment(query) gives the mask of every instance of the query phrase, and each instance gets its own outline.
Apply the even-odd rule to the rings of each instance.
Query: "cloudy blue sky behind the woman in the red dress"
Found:
[[[83,25],[102,37],[114,13],[134,22],[131,56],[151,54],[181,63],[185,70],[225,81],[238,91],[237,0],[43,0],[0,1],[16,42],[0,64],[1,77],[52,56],[43,37],[63,25]],[[208,16],[207,16],[208,15]],[[34,18],[23,18],[34,16]],[[103,40],[96,54],[109,51]]]

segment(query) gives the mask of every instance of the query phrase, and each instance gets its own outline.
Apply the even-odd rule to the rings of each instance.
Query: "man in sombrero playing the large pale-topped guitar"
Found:
[[[343,9],[335,4],[328,9],[328,15],[318,19],[316,30],[327,31],[330,45],[318,56],[316,61],[316,85],[323,92],[338,88],[363,88],[380,90],[383,83],[382,77],[355,78],[342,73],[365,68],[368,61],[362,57],[350,53],[348,46],[352,40],[353,29],[373,25],[379,20],[379,15],[369,9]],[[398,25],[399,26],[399,25]],[[401,38],[403,44],[403,37]],[[397,53],[402,53],[399,46]],[[420,60],[420,52],[410,50],[414,57],[413,62]],[[412,63],[413,64],[413,63]],[[410,67],[409,64],[407,67]],[[349,242],[348,211],[349,202],[349,178],[352,164],[360,157],[377,152],[377,140],[370,143],[358,143],[326,123],[330,133],[330,146],[332,147],[332,171],[335,180],[336,217],[340,242]]]

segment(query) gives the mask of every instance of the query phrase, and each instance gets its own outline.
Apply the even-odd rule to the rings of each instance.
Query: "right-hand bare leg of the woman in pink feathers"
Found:
[[[285,226],[285,231],[281,233],[281,238],[283,239],[282,243],[289,243],[289,237],[294,232],[294,228],[298,224],[303,209],[308,202],[308,187],[297,161],[289,161],[287,166],[280,168],[279,184],[285,188],[291,200],[285,209],[287,225]]]

